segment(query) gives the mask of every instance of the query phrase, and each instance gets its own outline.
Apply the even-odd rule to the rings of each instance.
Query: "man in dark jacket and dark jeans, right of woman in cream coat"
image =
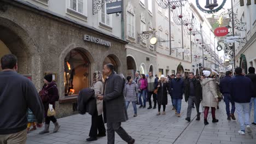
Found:
[[[226,104],[226,115],[228,115],[227,119],[229,121],[231,120],[231,118],[233,120],[236,120],[235,115],[234,115],[234,113],[235,113],[235,102],[234,102],[234,100],[231,99],[230,89],[229,89],[229,82],[232,79],[231,76],[232,76],[231,71],[226,71],[226,76],[223,79],[220,80],[220,85],[219,85],[219,90],[224,96],[224,101],[225,101],[225,104]],[[232,105],[231,113],[230,113],[229,103],[231,103],[231,105]]]

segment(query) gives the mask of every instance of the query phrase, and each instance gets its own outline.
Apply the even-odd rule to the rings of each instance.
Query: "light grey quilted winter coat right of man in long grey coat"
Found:
[[[132,83],[126,82],[124,87],[124,97],[125,101],[137,101],[136,92],[137,92],[138,86],[135,81],[132,81]]]

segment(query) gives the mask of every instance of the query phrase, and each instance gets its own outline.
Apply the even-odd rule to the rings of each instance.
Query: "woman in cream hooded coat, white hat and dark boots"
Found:
[[[211,71],[203,70],[203,75],[205,76],[205,79],[201,80],[202,85],[202,106],[205,106],[205,112],[204,112],[204,123],[205,125],[209,124],[207,121],[208,112],[211,107],[212,110],[212,122],[217,123],[219,122],[218,119],[216,119],[215,111],[216,107],[218,106],[219,99],[216,92],[216,84],[215,81],[210,78]]]

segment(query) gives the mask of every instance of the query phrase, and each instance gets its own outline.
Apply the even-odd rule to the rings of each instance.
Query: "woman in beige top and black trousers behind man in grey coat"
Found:
[[[96,99],[98,95],[103,93],[103,82],[101,71],[95,71],[93,82],[91,88],[94,89],[94,98]],[[86,141],[96,141],[97,136],[106,136],[106,129],[103,122],[102,112],[103,112],[103,101],[96,99],[96,110],[91,116],[91,129],[89,133],[89,138]],[[98,132],[98,134],[97,134]]]

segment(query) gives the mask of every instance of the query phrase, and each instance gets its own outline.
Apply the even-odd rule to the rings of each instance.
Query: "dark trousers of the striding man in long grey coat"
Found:
[[[126,142],[130,142],[132,140],[132,137],[121,127],[120,122],[107,123],[108,144],[115,143],[115,132]]]

